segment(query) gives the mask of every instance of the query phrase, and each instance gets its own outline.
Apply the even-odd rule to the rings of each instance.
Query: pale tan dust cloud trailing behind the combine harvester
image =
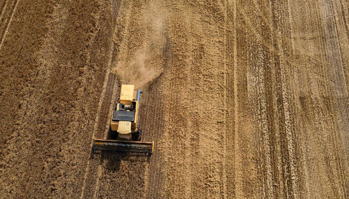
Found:
[[[163,56],[164,35],[165,35],[165,16],[163,14],[155,14],[156,10],[161,9],[159,5],[150,2],[142,15],[142,23],[140,35],[143,44],[138,49],[123,48],[131,56],[126,60],[123,56],[118,56],[118,63],[112,72],[117,74],[122,84],[132,84],[136,88],[147,90],[149,86],[163,72]],[[139,39],[130,35],[128,42],[139,42]],[[129,44],[127,44],[129,45]],[[134,51],[134,53],[130,53]]]

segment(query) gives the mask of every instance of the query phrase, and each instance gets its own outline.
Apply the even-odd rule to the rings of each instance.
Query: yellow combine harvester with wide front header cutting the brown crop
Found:
[[[153,142],[141,142],[142,131],[139,123],[139,103],[141,90],[134,85],[122,85],[120,100],[111,115],[110,139],[94,139],[93,151],[115,151],[152,155]]]

